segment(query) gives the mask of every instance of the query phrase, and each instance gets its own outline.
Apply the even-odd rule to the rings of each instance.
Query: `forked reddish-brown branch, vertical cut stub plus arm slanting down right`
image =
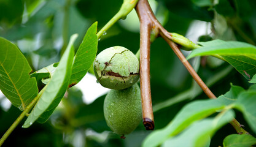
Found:
[[[193,67],[189,64],[187,59],[185,59],[184,55],[181,53],[176,43],[172,41],[171,33],[166,31],[165,28],[159,23],[153,11],[149,5],[147,0],[139,0],[136,6],[136,12],[138,13],[139,20],[141,22],[141,99],[142,99],[142,109],[143,109],[143,118],[144,116],[152,117],[153,121],[153,112],[152,112],[152,102],[150,96],[150,78],[149,78],[149,52],[150,52],[150,31],[154,29],[155,32],[158,32],[163,39],[169,44],[169,46],[173,49],[174,53],[178,56],[180,61],[187,68],[188,72],[192,75],[196,83],[203,89],[204,93],[210,99],[216,99],[214,94],[205,85],[203,80],[198,76]],[[146,73],[145,73],[146,72]],[[239,124],[239,122],[234,118],[230,124],[236,129],[238,134],[249,134],[246,130],[244,130]],[[145,124],[144,124],[145,125]],[[146,126],[145,126],[146,127]],[[146,127],[147,129],[147,127]]]

